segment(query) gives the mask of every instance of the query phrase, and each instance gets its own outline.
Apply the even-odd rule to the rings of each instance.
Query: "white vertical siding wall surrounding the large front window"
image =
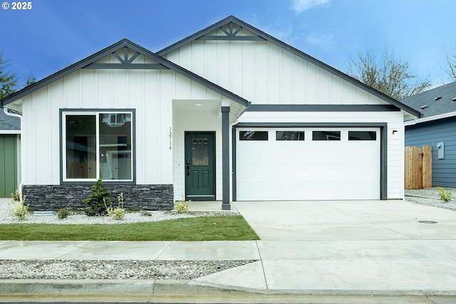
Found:
[[[118,63],[108,57],[99,62]],[[22,100],[24,184],[60,184],[60,109],[135,109],[136,183],[172,184],[173,99],[222,96],[172,70],[117,69],[77,70],[27,95]]]

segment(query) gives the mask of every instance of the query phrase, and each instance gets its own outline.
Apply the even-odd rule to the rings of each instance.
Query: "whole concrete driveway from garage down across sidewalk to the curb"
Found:
[[[455,295],[456,211],[407,201],[233,205],[261,238],[268,289]]]

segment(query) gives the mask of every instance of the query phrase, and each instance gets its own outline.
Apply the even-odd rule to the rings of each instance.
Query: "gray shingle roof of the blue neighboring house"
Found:
[[[441,115],[456,116],[456,82],[415,94],[401,102],[420,111],[427,121],[431,117],[439,119]]]

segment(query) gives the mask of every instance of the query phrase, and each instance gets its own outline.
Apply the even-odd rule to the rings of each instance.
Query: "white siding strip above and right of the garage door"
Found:
[[[387,135],[387,198],[404,198],[404,127],[403,111],[397,112],[244,112],[239,122],[318,122],[328,123],[386,123]],[[393,130],[398,136],[393,137]],[[385,139],[383,139],[385,140]],[[334,151],[337,153],[337,151]],[[380,187],[380,185],[379,185]]]

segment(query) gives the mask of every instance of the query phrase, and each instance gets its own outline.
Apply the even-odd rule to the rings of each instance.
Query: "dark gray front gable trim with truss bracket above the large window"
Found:
[[[116,58],[120,61],[120,63],[113,63],[113,64],[103,64],[103,63],[95,63],[96,61],[100,60],[101,58],[108,56],[110,54],[113,54],[117,51],[120,51],[125,48],[130,48],[133,51],[136,51],[142,56],[145,56],[146,58],[150,58],[152,61],[155,61],[156,64],[139,64],[139,63],[132,63],[134,61],[134,58],[136,58],[138,55],[133,56],[134,58],[130,58],[130,60],[127,60],[127,54],[125,53],[125,60],[118,56],[118,54],[115,54]],[[44,86],[53,83],[54,81],[65,77],[68,74],[71,74],[75,72],[76,70],[79,70],[81,68],[121,68],[121,65],[128,65],[128,68],[160,68],[160,69],[169,69],[173,70],[176,73],[179,73],[180,75],[184,75],[187,78],[190,78],[190,80],[194,80],[196,83],[199,83],[201,85],[204,85],[206,88],[209,88],[213,90],[214,92],[219,93],[220,95],[229,98],[230,100],[234,100],[235,102],[239,103],[240,105],[244,105],[245,107],[248,107],[250,105],[248,100],[245,100],[244,98],[230,92],[229,90],[226,90],[219,85],[216,85],[215,83],[210,82],[207,79],[202,78],[199,75],[196,75],[195,73],[190,72],[190,70],[186,70],[185,68],[180,67],[179,65],[172,63],[171,61],[168,61],[165,58],[162,58],[161,56],[157,56],[157,54],[152,53],[151,51],[148,51],[146,48],[142,48],[141,46],[138,46],[138,44],[135,44],[128,39],[123,39],[119,41],[118,43],[114,43],[112,46],[108,46],[108,48],[104,48],[103,50],[99,51],[98,53],[95,53],[91,56],[88,56],[87,58],[83,59],[82,61],[78,61],[77,63],[74,63],[73,65],[68,66],[67,68],[64,68],[63,70],[59,70],[58,72],[43,78],[42,80],[33,83],[32,85],[28,85],[26,88],[23,88],[22,90],[17,91],[16,93],[13,93],[6,98],[0,100],[0,105],[3,107],[4,105],[8,105],[9,103],[14,102],[15,100],[18,100],[19,98],[24,97],[25,95],[28,95],[40,88],[43,88]]]

